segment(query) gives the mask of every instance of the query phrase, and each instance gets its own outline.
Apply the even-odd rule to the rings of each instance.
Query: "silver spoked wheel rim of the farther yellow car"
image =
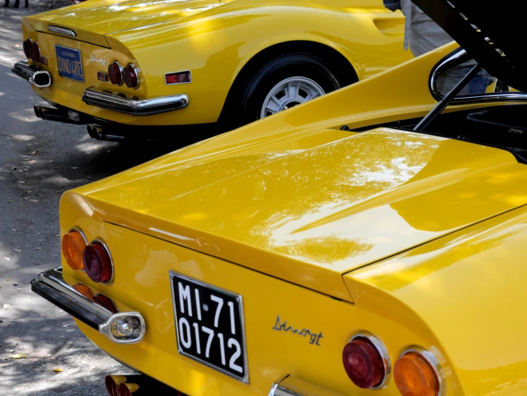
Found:
[[[273,86],[261,107],[260,118],[265,118],[326,94],[322,87],[306,77],[290,77]]]

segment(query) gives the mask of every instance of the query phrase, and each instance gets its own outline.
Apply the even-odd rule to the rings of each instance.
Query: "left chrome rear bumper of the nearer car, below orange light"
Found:
[[[134,344],[143,339],[146,325],[143,317],[138,312],[113,313],[93,300],[81,294],[69,284],[64,282],[62,268],[57,267],[41,272],[31,281],[31,290],[39,296],[94,328],[101,334],[106,335],[111,341],[118,344]],[[136,337],[118,338],[111,331],[120,320],[133,318],[134,323],[140,326],[140,334]],[[139,328],[139,327],[138,327]]]

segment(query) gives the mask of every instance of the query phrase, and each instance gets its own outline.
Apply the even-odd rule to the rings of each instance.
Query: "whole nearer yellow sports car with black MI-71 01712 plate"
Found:
[[[463,49],[64,194],[110,395],[527,393],[525,14],[415,2]]]

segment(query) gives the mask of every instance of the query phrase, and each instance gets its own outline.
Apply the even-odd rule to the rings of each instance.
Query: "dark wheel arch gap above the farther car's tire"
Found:
[[[332,71],[335,73],[335,77],[341,87],[358,81],[358,74],[353,66],[353,62],[331,44],[323,44],[319,41],[311,40],[281,41],[266,46],[259,51],[255,51],[251,56],[246,56],[245,62],[241,62],[226,96],[224,107],[221,109],[219,120],[221,121],[225,119],[225,117],[228,117],[229,109],[231,108],[231,105],[234,104],[236,95],[239,94],[244,81],[246,81],[246,79],[248,79],[249,76],[259,68],[259,66],[277,56],[291,52],[305,52],[306,54],[317,56],[328,61],[328,63],[333,66]]]

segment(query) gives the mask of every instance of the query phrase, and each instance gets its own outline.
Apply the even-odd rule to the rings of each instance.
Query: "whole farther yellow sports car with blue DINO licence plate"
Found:
[[[232,128],[411,59],[403,24],[381,0],[92,0],[24,18],[13,71],[99,139]]]

